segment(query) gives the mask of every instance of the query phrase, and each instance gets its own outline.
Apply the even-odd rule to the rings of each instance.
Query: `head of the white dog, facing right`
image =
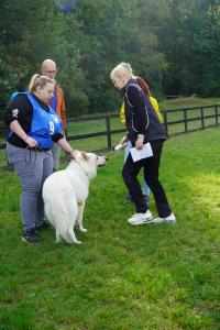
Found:
[[[108,158],[106,156],[98,156],[94,153],[76,151],[73,162],[75,161],[91,179],[97,175],[97,167],[106,165],[107,160]]]

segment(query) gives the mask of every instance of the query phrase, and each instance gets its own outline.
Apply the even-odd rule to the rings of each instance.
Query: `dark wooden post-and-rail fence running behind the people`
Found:
[[[210,113],[211,111],[211,113]],[[161,111],[164,117],[164,125],[165,131],[168,138],[186,134],[189,132],[195,132],[199,130],[205,130],[206,128],[219,125],[219,117],[220,117],[220,105],[213,106],[202,106],[202,107],[193,107],[193,108],[183,108],[175,110],[163,110]],[[191,117],[193,116],[193,117]],[[84,134],[67,134],[68,141],[73,140],[81,140],[88,138],[97,138],[97,136],[106,136],[107,139],[107,150],[112,150],[112,135],[118,133],[125,132],[125,129],[111,129],[112,128],[112,119],[119,118],[119,113],[107,113],[99,116],[87,116],[80,118],[69,118],[68,125],[73,125],[74,123],[82,123],[89,121],[106,121],[106,130],[84,133]],[[197,123],[197,125],[189,127],[189,123]],[[180,127],[179,129],[179,125]],[[173,132],[172,128],[175,128]],[[7,129],[2,122],[0,122],[0,138],[1,140],[6,138]],[[0,143],[0,150],[6,148],[6,143]]]

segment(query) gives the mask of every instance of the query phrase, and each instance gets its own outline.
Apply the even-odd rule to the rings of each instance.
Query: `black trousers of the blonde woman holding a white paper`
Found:
[[[151,146],[153,151],[152,157],[144,158],[134,163],[131,154],[129,154],[122,169],[122,177],[132,199],[134,200],[136,212],[144,213],[147,210],[147,206],[144,201],[143,193],[138,180],[139,172],[142,167],[144,167],[144,178],[154,195],[158,216],[165,218],[172,213],[172,210],[168,205],[164,188],[158,180],[158,168],[163,141],[151,141]]]

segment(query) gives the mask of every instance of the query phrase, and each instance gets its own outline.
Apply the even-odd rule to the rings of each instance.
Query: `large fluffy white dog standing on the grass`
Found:
[[[43,185],[43,199],[48,221],[56,230],[56,242],[80,244],[74,226],[82,226],[85,202],[89,193],[89,182],[97,175],[97,167],[106,164],[105,156],[76,151],[66,169],[53,173]]]

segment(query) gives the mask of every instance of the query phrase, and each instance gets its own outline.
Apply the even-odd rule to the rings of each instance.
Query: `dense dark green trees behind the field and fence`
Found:
[[[1,0],[0,102],[25,90],[41,62],[59,68],[69,116],[114,111],[110,70],[129,62],[157,98],[219,96],[216,0]]]

